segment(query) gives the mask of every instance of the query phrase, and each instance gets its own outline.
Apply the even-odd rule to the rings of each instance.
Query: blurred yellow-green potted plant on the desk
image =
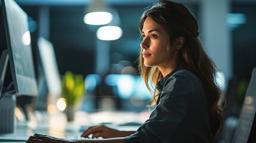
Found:
[[[67,115],[67,120],[74,120],[75,111],[78,109],[82,98],[85,94],[84,77],[81,74],[73,74],[71,71],[66,71],[61,80],[62,95],[66,100],[67,107],[64,112]]]

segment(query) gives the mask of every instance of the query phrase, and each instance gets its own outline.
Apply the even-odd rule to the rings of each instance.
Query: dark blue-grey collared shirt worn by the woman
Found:
[[[201,80],[181,66],[162,78],[156,108],[128,143],[212,142],[209,111]]]

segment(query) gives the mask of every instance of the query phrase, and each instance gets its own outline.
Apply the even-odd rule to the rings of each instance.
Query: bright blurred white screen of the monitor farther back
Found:
[[[53,97],[60,97],[61,79],[58,71],[53,43],[45,38],[38,38],[38,51],[47,82],[48,94]]]

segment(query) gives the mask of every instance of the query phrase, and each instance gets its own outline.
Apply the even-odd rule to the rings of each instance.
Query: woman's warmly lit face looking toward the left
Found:
[[[140,43],[144,65],[168,68],[174,61],[173,48],[169,46],[168,34],[151,17],[147,17],[141,32]]]

